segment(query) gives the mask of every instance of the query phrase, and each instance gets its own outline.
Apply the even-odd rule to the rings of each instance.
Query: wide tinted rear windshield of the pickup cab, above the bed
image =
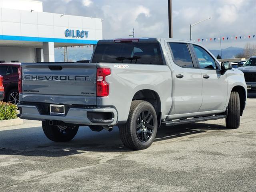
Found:
[[[126,63],[163,65],[159,43],[98,44],[93,63]]]

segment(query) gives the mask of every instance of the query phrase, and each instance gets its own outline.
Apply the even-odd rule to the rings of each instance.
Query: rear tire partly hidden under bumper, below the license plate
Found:
[[[76,136],[79,126],[50,125],[49,121],[42,121],[42,128],[46,137],[55,142],[67,142]]]

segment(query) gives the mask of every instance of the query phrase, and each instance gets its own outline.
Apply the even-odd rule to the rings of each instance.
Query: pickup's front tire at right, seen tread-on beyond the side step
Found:
[[[238,92],[231,92],[228,103],[228,116],[226,117],[226,127],[237,129],[240,126],[240,98]]]

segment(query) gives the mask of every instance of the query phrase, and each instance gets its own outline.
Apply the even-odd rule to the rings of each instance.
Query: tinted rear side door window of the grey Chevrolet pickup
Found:
[[[169,43],[172,50],[174,63],[180,67],[193,68],[192,58],[185,43]]]

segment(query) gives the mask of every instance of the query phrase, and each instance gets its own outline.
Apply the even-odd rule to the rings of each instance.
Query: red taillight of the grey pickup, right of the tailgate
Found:
[[[97,68],[97,97],[105,97],[109,94],[109,84],[106,76],[111,74],[110,68]]]

